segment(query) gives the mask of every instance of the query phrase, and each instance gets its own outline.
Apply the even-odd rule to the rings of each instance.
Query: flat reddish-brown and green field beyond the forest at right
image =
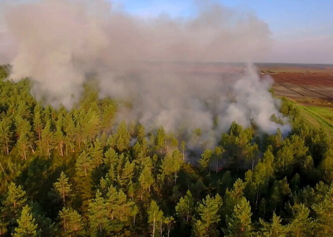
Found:
[[[275,96],[297,103],[307,121],[333,135],[332,65],[270,64],[261,65],[260,71],[274,79]]]

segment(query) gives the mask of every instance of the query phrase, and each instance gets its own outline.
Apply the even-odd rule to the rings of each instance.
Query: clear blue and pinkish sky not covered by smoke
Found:
[[[204,1],[204,0],[201,0]],[[265,21],[274,41],[266,62],[333,63],[333,0],[215,0]],[[116,8],[144,18],[191,17],[191,0],[117,0]]]

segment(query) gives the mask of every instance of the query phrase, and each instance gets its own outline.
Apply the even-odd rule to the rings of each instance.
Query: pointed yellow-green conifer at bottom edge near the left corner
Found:
[[[31,208],[28,205],[23,207],[17,223],[19,226],[15,228],[14,237],[38,236],[37,224],[35,223],[35,218],[32,216]]]

